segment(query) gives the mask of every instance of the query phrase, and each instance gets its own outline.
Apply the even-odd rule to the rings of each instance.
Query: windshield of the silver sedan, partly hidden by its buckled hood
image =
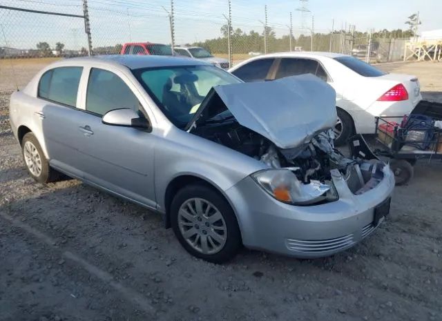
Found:
[[[212,87],[241,81],[215,66],[175,66],[133,70],[140,84],[175,126],[184,128]]]

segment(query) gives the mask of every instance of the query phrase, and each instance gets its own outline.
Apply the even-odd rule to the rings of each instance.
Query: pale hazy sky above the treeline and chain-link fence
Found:
[[[174,0],[175,43],[221,36],[227,22],[228,0]],[[330,32],[347,24],[367,31],[407,28],[410,14],[420,12],[420,30],[442,29],[442,0],[309,0],[302,15],[299,0],[231,0],[232,26],[245,32],[262,32],[267,5],[268,24],[278,37],[287,35],[292,12],[294,35],[307,34],[314,17],[315,32]],[[82,14],[82,0],[1,0],[3,6]],[[170,43],[168,12],[171,0],[88,0],[93,46],[128,41]],[[163,8],[164,7],[164,8]],[[54,47],[86,47],[84,22],[79,18],[48,16],[0,9],[0,46],[35,48],[39,41]],[[3,35],[4,32],[4,35]],[[227,45],[226,45],[227,46]]]

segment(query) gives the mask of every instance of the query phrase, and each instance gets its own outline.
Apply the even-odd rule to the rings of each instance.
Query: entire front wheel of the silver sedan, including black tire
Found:
[[[170,214],[175,236],[195,257],[219,264],[231,260],[242,246],[233,209],[209,186],[192,184],[180,189],[173,198]]]

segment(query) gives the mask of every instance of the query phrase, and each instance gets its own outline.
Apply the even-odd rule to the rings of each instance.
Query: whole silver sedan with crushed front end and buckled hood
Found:
[[[361,137],[333,145],[334,90],[312,75],[245,84],[176,57],[66,59],[14,93],[30,175],[81,179],[162,214],[211,262],[240,246],[332,255],[390,211],[394,175]]]

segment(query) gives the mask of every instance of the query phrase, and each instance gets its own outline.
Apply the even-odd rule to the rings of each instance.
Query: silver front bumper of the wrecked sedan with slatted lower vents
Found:
[[[390,197],[394,175],[385,166],[384,179],[362,195],[354,195],[340,173],[332,175],[339,200],[316,206],[294,206],[275,200],[247,177],[226,191],[236,211],[242,242],[294,257],[323,257],[343,251],[367,237],[374,226],[374,208]]]

